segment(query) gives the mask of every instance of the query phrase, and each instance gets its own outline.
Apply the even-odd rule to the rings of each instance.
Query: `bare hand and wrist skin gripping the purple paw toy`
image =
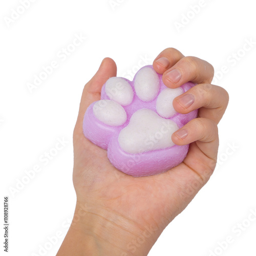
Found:
[[[163,61],[158,61],[162,57]],[[113,167],[106,151],[84,137],[84,113],[92,102],[100,99],[105,81],[116,76],[114,60],[104,58],[82,92],[73,135],[77,203],[57,256],[147,255],[164,228],[185,209],[214,172],[219,146],[217,124],[228,104],[228,93],[210,84],[214,68],[207,61],[185,57],[174,48],[162,51],[153,67],[163,74],[163,82],[169,88],[187,81],[197,83],[173,102],[179,113],[199,109],[199,117],[172,136],[178,145],[191,143],[186,158],[163,174],[134,178]],[[181,74],[176,83],[167,75],[174,69]],[[182,97],[187,94],[185,98],[190,103],[194,98],[190,106],[182,104]]]

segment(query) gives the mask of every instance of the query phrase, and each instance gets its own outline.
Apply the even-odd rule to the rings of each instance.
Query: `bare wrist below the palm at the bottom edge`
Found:
[[[160,235],[152,225],[140,226],[113,210],[80,202],[76,204],[69,232],[81,245],[76,255],[92,256],[147,255]]]

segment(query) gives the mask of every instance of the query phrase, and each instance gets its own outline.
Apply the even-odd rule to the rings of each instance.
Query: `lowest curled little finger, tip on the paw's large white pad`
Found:
[[[173,133],[172,140],[177,145],[197,141],[200,150],[210,159],[216,160],[219,138],[217,123],[208,118],[195,118]]]

